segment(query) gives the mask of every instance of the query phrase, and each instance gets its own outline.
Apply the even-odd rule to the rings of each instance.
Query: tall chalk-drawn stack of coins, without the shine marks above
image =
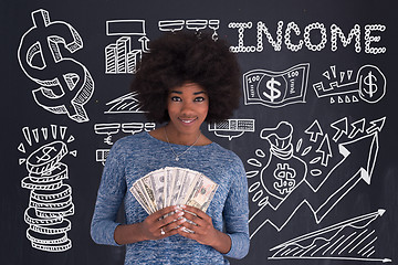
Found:
[[[72,247],[67,237],[74,214],[72,188],[63,181],[69,178],[67,166],[61,162],[67,153],[63,141],[53,141],[33,151],[27,159],[29,176],[21,181],[31,190],[24,221],[29,224],[27,237],[32,247],[46,252],[64,252]]]

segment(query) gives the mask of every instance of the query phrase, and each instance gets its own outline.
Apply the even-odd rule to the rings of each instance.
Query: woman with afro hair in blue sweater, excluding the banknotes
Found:
[[[178,32],[150,43],[132,89],[149,120],[165,126],[116,141],[104,168],[91,234],[126,245],[125,264],[229,264],[249,251],[248,187],[241,160],[200,131],[239,106],[235,56],[221,40]],[[148,215],[128,191],[147,173],[178,167],[218,184],[206,212],[171,205]],[[126,223],[116,222],[124,202]]]

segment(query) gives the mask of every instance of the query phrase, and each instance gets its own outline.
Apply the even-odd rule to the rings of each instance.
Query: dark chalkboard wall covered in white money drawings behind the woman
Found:
[[[103,162],[157,126],[128,88],[181,29],[241,64],[240,108],[202,128],[247,170],[251,247],[231,264],[396,264],[392,3],[1,1],[1,264],[123,264],[90,237]]]

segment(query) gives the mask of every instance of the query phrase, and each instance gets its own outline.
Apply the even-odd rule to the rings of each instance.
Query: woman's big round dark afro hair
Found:
[[[149,120],[168,121],[168,93],[188,82],[203,87],[209,96],[206,121],[228,119],[239,107],[240,68],[226,41],[214,41],[205,32],[180,31],[150,41],[149,49],[132,83]]]

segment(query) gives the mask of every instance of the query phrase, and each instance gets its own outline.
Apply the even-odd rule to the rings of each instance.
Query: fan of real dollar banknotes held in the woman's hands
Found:
[[[181,204],[206,212],[217,188],[216,182],[200,172],[167,167],[138,179],[129,191],[145,211],[151,214],[166,206]]]

